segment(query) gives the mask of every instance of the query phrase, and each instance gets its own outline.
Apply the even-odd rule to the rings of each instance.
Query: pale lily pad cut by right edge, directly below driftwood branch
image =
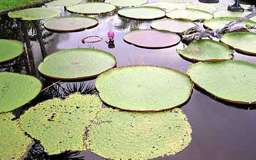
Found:
[[[248,54],[256,54],[256,33],[234,32],[221,37],[222,43]]]

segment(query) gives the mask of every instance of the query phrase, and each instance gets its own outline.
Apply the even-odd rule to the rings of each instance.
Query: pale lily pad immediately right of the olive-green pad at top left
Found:
[[[77,14],[104,14],[115,10],[115,6],[108,3],[83,3],[69,6],[67,10]]]

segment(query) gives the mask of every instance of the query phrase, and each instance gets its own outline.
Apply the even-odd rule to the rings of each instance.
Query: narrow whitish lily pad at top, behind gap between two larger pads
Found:
[[[147,3],[143,6],[158,7],[160,9],[166,9],[166,10],[185,9],[185,6],[182,5],[181,3],[168,3],[168,2]]]

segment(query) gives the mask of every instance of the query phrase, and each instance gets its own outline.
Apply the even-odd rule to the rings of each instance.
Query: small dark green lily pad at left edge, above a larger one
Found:
[[[23,53],[23,43],[16,40],[0,39],[0,63],[13,60]]]

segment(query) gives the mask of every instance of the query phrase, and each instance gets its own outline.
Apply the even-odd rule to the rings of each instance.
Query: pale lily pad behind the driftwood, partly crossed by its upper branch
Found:
[[[212,18],[209,20],[205,20],[204,27],[210,28],[211,30],[221,29],[221,28],[224,28],[225,25],[228,24],[229,22],[232,22],[234,19],[237,19],[237,18],[232,18],[232,17]],[[253,20],[246,20],[245,22],[236,24],[234,27],[246,26],[246,24],[256,25],[256,22],[254,22]]]

